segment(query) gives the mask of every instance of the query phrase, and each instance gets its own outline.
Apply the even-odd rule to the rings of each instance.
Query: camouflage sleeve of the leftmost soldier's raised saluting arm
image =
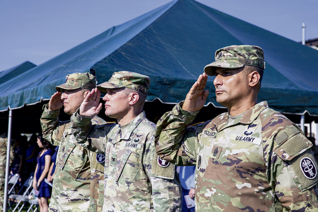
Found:
[[[58,146],[63,137],[63,133],[70,122],[59,121],[60,111],[50,111],[48,104],[43,105],[43,113],[41,116],[41,127],[43,138],[50,141],[53,145]]]

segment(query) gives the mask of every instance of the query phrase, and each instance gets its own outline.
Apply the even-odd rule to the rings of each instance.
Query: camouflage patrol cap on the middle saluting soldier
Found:
[[[150,87],[150,78],[135,72],[119,71],[114,72],[108,82],[97,85],[97,89],[102,93],[107,93],[107,88],[121,87],[134,89],[147,95]]]

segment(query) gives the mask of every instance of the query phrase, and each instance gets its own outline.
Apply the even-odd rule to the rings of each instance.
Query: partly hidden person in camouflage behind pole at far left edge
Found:
[[[7,148],[7,137],[6,134],[0,135],[0,211],[3,210],[3,198],[4,198],[4,183],[5,183],[5,165],[6,165],[6,148]],[[10,162],[14,158],[13,142],[11,142],[10,148]]]

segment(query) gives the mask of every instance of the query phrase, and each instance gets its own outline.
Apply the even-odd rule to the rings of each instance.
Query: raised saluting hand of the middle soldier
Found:
[[[100,91],[97,88],[93,88],[87,93],[84,101],[79,108],[79,115],[86,117],[94,117],[101,110],[102,104],[99,103]]]

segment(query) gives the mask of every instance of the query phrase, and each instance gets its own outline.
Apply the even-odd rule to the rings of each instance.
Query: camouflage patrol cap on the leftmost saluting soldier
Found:
[[[75,90],[78,88],[87,88],[89,90],[96,87],[96,76],[90,73],[72,73],[66,76],[65,83],[56,86],[55,89],[61,93],[64,90]]]

